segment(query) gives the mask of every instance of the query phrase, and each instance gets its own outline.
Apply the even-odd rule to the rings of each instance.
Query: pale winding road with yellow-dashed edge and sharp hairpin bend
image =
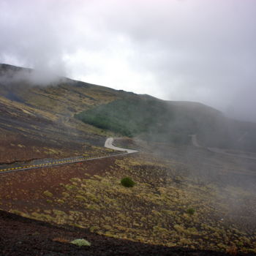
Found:
[[[68,158],[63,158],[63,159],[39,159],[37,162],[34,162],[33,164],[24,164],[22,166],[20,165],[12,165],[12,167],[1,167],[0,166],[0,174],[1,173],[12,173],[20,170],[29,170],[29,169],[34,169],[34,168],[42,168],[42,167],[50,167],[50,166],[55,166],[55,165],[67,165],[67,164],[72,164],[75,162],[85,162],[85,161],[91,161],[95,159],[102,159],[102,158],[108,158],[108,157],[118,157],[118,156],[124,156],[126,154],[133,154],[137,153],[138,150],[135,149],[128,149],[128,148],[118,148],[117,146],[113,145],[113,138],[107,138],[105,141],[105,148],[111,148],[113,150],[117,151],[124,151],[124,153],[118,153],[118,154],[112,154],[109,156],[105,157],[94,157],[94,158],[86,158],[86,157],[68,157]]]

